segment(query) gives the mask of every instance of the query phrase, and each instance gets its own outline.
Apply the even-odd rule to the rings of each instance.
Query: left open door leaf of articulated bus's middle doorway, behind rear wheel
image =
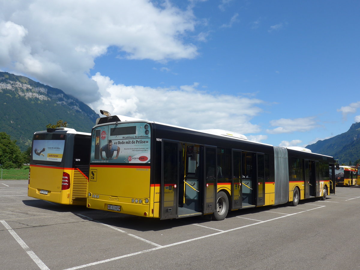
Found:
[[[240,209],[241,208],[241,150],[232,150],[232,161],[233,161],[233,171],[232,171],[232,190],[231,190],[231,199],[233,200],[232,209]]]

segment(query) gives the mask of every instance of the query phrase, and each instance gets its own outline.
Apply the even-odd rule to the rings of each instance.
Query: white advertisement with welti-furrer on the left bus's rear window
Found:
[[[64,153],[64,140],[34,140],[33,160],[61,162]]]

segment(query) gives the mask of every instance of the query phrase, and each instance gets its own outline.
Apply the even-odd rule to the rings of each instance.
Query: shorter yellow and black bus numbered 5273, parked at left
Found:
[[[86,205],[91,134],[57,128],[33,135],[28,196]]]

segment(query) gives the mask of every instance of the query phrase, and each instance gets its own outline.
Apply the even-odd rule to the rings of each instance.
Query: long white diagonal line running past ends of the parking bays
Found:
[[[315,205],[315,204],[312,204],[312,205]],[[116,261],[116,260],[120,260],[120,259],[122,259],[122,258],[135,256],[135,255],[138,255],[138,254],[141,254],[141,253],[147,253],[147,252],[154,251],[154,250],[158,250],[158,249],[163,249],[163,248],[172,247],[172,246],[177,246],[177,245],[184,244],[184,243],[189,243],[189,242],[192,242],[192,241],[195,241],[195,240],[199,240],[199,239],[211,237],[211,236],[218,235],[218,234],[228,233],[229,231],[239,230],[239,229],[247,228],[247,227],[250,227],[250,226],[262,224],[262,223],[265,223],[265,222],[277,220],[277,219],[282,219],[282,218],[284,218],[284,217],[297,215],[297,214],[300,214],[300,213],[304,213],[304,212],[307,212],[307,211],[319,209],[319,208],[322,208],[322,207],[326,207],[326,206],[322,205],[322,206],[315,207],[315,208],[312,208],[312,209],[309,209],[309,210],[304,210],[304,211],[300,211],[300,212],[297,212],[297,213],[288,214],[288,215],[286,215],[286,216],[275,217],[274,219],[269,219],[269,220],[265,220],[265,221],[260,221],[260,222],[256,222],[256,223],[253,223],[253,224],[241,226],[241,227],[238,227],[238,228],[226,230],[226,231],[219,231],[218,233],[208,234],[208,235],[204,235],[204,236],[201,236],[201,237],[196,237],[196,238],[184,240],[184,241],[181,241],[181,242],[168,244],[168,245],[165,245],[165,246],[160,246],[160,247],[151,248],[151,249],[145,249],[145,250],[143,250],[143,251],[138,251],[138,252],[126,254],[126,255],[123,255],[123,256],[113,257],[113,258],[109,258],[109,259],[102,260],[102,261],[91,262],[90,264],[79,265],[79,266],[67,268],[67,269],[64,269],[64,270],[75,270],[75,269],[81,269],[81,268],[88,267],[88,266],[94,266],[94,265],[98,265],[98,264],[104,264],[105,262]],[[101,223],[101,222],[100,222],[100,223]]]

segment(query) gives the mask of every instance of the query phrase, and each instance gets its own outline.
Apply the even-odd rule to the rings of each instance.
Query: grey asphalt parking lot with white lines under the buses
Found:
[[[327,200],[157,220],[27,197],[0,181],[1,269],[359,269],[360,186]]]

